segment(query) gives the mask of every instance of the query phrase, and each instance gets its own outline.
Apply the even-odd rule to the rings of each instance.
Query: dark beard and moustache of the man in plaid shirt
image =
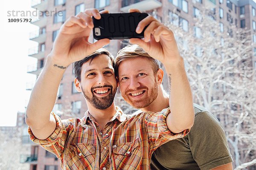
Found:
[[[108,96],[99,98],[94,95],[93,90],[95,88],[105,88],[105,87],[110,88],[110,94]],[[85,99],[87,99],[90,102],[90,104],[93,106],[93,108],[100,109],[100,110],[109,108],[112,105],[112,103],[114,101],[115,94],[116,94],[116,90],[113,91],[113,86],[111,86],[111,85],[104,85],[104,86],[91,88],[91,92],[93,94],[93,97],[91,97],[91,98],[90,98],[90,94],[87,91],[85,92],[83,87],[81,87],[81,90],[82,90],[82,93],[83,93]]]

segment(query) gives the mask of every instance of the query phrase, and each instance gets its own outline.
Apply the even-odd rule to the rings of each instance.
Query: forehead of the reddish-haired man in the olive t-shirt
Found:
[[[145,57],[135,57],[123,60],[118,67],[118,74],[132,74],[133,72],[153,72],[152,63]]]

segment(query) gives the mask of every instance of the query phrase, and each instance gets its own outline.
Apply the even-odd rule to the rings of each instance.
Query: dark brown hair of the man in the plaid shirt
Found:
[[[81,81],[81,69],[82,69],[82,65],[84,64],[84,62],[87,62],[90,59],[90,63],[91,63],[93,61],[93,59],[95,57],[99,56],[100,54],[106,54],[110,58],[113,68],[115,68],[115,59],[114,59],[113,55],[107,49],[100,48],[100,49],[96,50],[95,52],[93,52],[93,54],[90,54],[89,56],[84,57],[84,59],[81,59],[80,61],[73,62],[74,74],[79,82]]]

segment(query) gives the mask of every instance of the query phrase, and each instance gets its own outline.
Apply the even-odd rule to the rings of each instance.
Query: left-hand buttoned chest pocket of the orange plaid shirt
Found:
[[[93,169],[96,146],[92,144],[70,144],[70,152],[67,156],[67,167],[72,170]]]

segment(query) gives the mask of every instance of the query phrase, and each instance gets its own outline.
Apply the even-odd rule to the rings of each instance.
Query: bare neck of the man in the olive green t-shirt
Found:
[[[158,87],[158,95],[157,98],[147,107],[141,108],[140,110],[143,112],[148,111],[162,111],[165,108],[169,107],[169,96],[163,90],[162,87]]]

